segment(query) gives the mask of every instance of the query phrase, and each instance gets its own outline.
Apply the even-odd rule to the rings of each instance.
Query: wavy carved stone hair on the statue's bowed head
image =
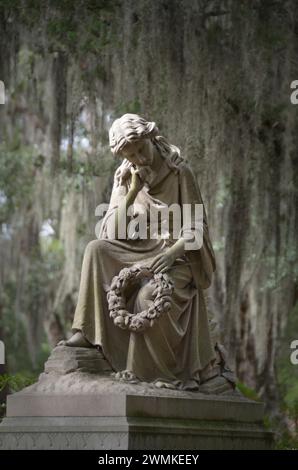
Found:
[[[179,171],[177,164],[173,160],[177,156],[182,160],[180,149],[170,144],[165,137],[160,135],[155,122],[146,121],[146,119],[138,114],[127,113],[115,119],[109,130],[110,148],[116,156],[121,155],[121,151],[127,143],[135,142],[139,139],[150,139],[160,155],[166,160],[168,166],[176,172]]]

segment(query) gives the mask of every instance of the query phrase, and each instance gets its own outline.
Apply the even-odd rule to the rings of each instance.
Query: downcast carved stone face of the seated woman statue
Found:
[[[139,139],[125,144],[121,154],[135,166],[150,166],[154,160],[154,146],[150,139]]]

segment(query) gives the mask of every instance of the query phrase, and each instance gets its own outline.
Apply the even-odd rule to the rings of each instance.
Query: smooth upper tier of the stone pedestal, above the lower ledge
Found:
[[[71,377],[76,380],[77,377]],[[98,378],[101,384],[102,379]],[[32,391],[30,387],[10,395],[7,417],[17,416],[146,416],[175,419],[212,419],[243,422],[261,422],[263,405],[251,400],[219,396],[206,396],[195,392],[172,390],[159,394],[120,391],[112,380],[104,380],[106,388],[76,393]],[[103,391],[104,390],[104,391]],[[98,415],[98,412],[100,414]]]

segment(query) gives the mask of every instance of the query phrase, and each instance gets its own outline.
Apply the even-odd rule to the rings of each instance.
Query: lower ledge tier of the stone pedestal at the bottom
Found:
[[[0,449],[270,449],[259,423],[146,417],[6,418]]]

